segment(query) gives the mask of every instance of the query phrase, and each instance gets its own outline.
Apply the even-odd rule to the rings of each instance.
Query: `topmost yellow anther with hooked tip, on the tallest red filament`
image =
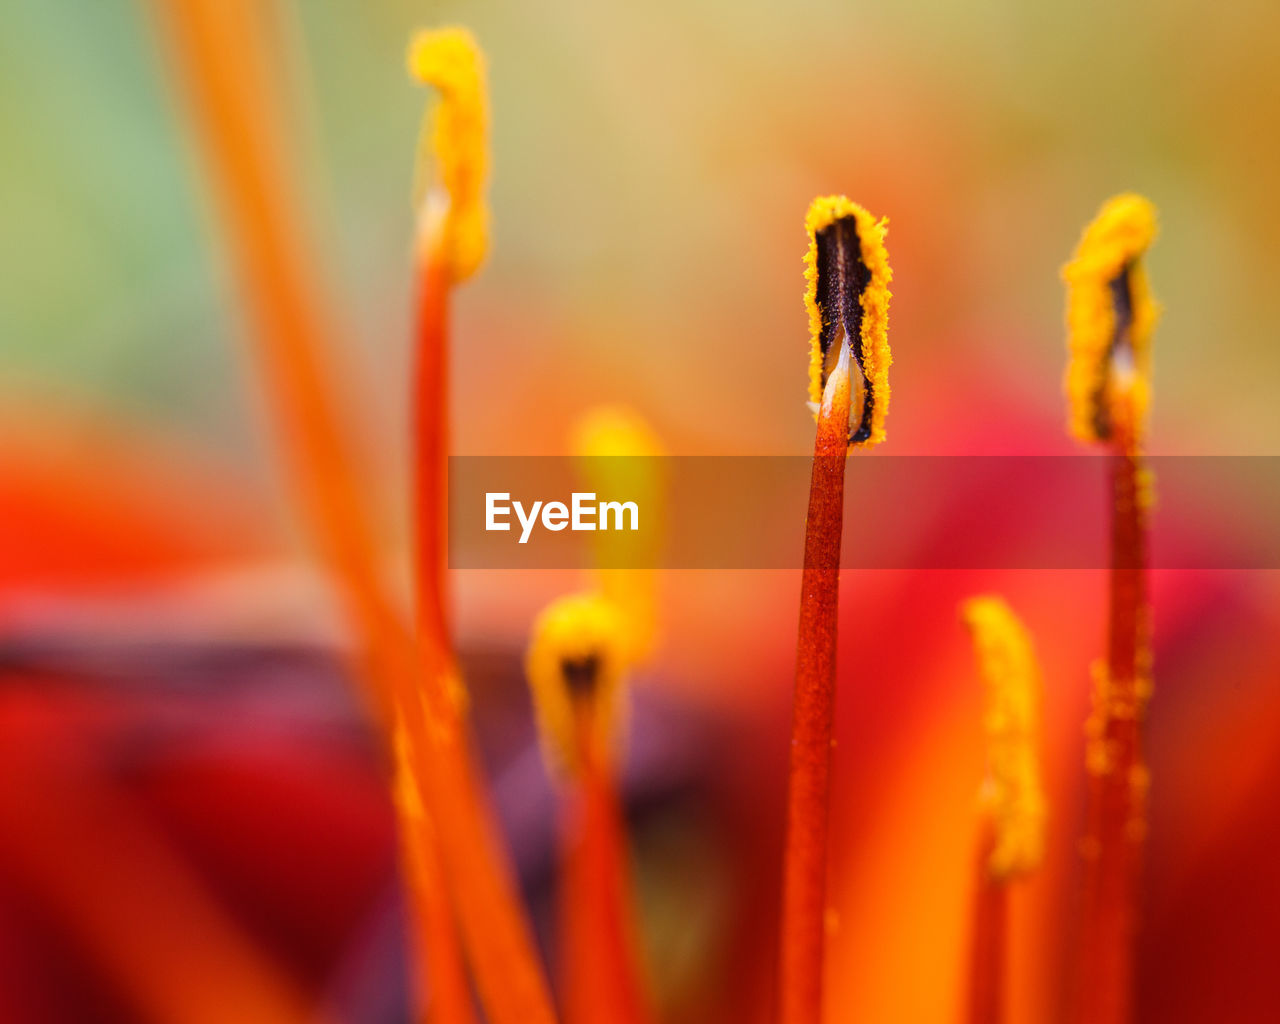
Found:
[[[465,28],[419,32],[408,47],[408,72],[440,92],[422,124],[413,175],[421,244],[461,282],[476,271],[489,250],[484,54]]]

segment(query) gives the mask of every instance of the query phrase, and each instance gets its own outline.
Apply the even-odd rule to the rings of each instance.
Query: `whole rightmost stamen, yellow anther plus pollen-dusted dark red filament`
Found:
[[[1082,1024],[1125,1024],[1133,1018],[1148,783],[1142,721],[1151,695],[1152,483],[1142,438],[1156,321],[1142,256],[1155,232],[1156,211],[1147,200],[1117,196],[1085,229],[1064,271],[1071,430],[1111,449],[1107,657],[1094,667],[1085,727],[1089,805],[1074,1006]]]

